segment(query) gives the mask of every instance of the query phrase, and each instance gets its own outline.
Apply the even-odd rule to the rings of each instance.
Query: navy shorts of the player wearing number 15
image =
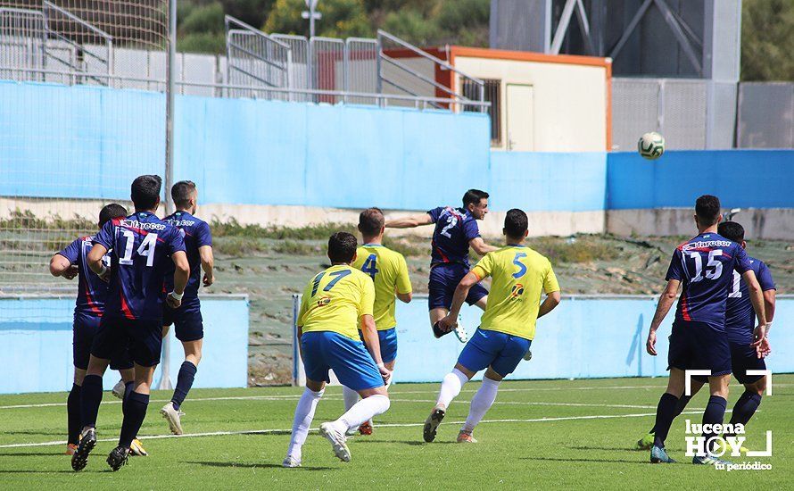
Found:
[[[731,347],[724,329],[698,320],[675,320],[670,335],[668,368],[731,373]]]

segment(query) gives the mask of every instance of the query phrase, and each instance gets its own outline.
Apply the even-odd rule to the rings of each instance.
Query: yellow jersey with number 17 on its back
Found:
[[[360,340],[362,315],[372,315],[375,287],[360,270],[347,264],[319,272],[303,289],[298,326],[303,332],[332,331]]]

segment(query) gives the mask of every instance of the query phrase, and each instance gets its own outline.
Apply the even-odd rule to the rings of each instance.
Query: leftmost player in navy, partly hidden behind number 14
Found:
[[[127,209],[120,204],[107,204],[99,212],[99,228],[113,218],[127,216]],[[79,237],[70,245],[54,254],[50,260],[50,273],[65,279],[74,279],[78,276],[78,297],[74,307],[74,324],[72,328],[72,360],[74,364],[74,383],[71,386],[69,397],[66,400],[68,420],[68,438],[66,454],[72,455],[77,449],[80,436],[80,389],[86,377],[88,357],[91,352],[91,343],[94,340],[96,329],[104,312],[104,302],[107,296],[108,285],[88,269],[86,256],[94,245],[94,237]],[[103,262],[110,265],[110,256],[105,255]],[[132,370],[132,360],[127,354],[111,361],[112,370],[119,370],[122,380],[121,396],[132,390],[135,374]],[[140,442],[133,440],[132,451],[134,454],[145,455],[146,452]]]

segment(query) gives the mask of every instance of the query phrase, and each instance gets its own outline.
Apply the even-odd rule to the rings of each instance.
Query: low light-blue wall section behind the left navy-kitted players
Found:
[[[8,368],[0,394],[68,390],[74,375],[71,319],[73,298],[0,298],[0,360]],[[204,351],[194,387],[247,387],[248,300],[244,296],[202,301]],[[174,380],[184,361],[182,345],[170,345]],[[155,386],[162,367],[154,374]],[[119,381],[108,370],[104,387]]]

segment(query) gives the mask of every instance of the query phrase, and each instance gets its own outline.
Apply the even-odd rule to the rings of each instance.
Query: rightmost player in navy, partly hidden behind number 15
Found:
[[[744,228],[735,221],[724,221],[719,224],[717,233],[728,240],[732,240],[741,247],[747,248],[744,240]],[[728,286],[728,299],[725,303],[725,331],[728,334],[728,344],[731,346],[731,369],[733,377],[744,386],[744,393],[733,405],[731,424],[741,423],[747,425],[753,414],[756,413],[761,397],[766,390],[765,375],[748,374],[748,370],[766,370],[764,358],[770,352],[768,333],[772,327],[774,316],[774,281],[772,273],[763,261],[749,257],[750,267],[756,274],[758,284],[764,292],[764,311],[766,314],[766,333],[761,345],[753,344],[753,328],[756,325],[756,314],[750,303],[747,282],[741,279],[739,273],[733,271],[733,278]],[[675,415],[683,412],[693,395],[697,394],[708,380],[703,377],[692,377],[691,395],[682,395],[675,408]],[[642,449],[649,449],[653,443],[653,434],[656,429],[649,431],[649,436],[641,438],[637,445]]]

